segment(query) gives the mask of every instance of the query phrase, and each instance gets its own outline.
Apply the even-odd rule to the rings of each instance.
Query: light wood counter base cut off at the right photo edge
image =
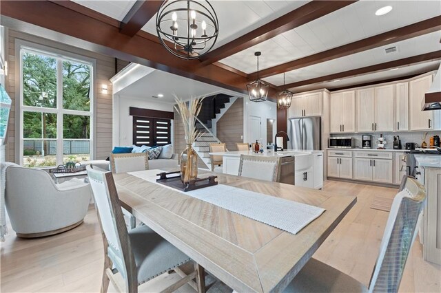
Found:
[[[415,155],[427,193],[422,223],[422,254],[425,261],[441,265],[441,155]],[[421,230],[420,230],[421,232]]]

